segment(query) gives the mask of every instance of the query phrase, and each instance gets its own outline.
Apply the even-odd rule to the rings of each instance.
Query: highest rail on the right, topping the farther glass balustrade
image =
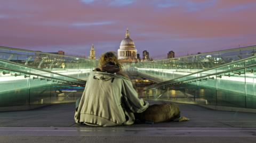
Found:
[[[179,56],[179,57],[167,58],[167,59],[162,59],[162,60],[153,60],[153,61],[175,60],[177,58],[185,58],[185,57],[190,57],[190,56],[201,56],[201,55],[213,54],[213,53],[233,52],[233,51],[239,51],[239,50],[250,49],[250,48],[256,48],[256,45],[254,45],[254,46],[247,46],[247,47],[241,47],[241,48],[225,49],[225,50],[222,50],[222,51],[206,52],[206,53],[195,54],[195,55]],[[143,63],[147,63],[147,62],[150,62],[150,61],[146,61],[146,62],[143,62]]]

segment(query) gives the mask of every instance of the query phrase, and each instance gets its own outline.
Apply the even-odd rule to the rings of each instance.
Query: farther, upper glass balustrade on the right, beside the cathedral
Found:
[[[255,54],[256,46],[242,47],[225,51],[169,58],[166,60],[142,61],[128,66],[125,70],[138,71],[139,73],[146,74],[148,77],[158,77],[160,81],[167,81],[223,64],[239,61],[254,56]],[[248,61],[247,63],[250,64],[250,62],[253,61]]]

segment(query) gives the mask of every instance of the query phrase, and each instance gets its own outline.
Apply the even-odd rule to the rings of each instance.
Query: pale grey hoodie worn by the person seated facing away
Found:
[[[93,71],[87,78],[78,110],[76,123],[113,126],[134,123],[134,114],[148,108],[148,103],[138,98],[131,80],[122,75]]]

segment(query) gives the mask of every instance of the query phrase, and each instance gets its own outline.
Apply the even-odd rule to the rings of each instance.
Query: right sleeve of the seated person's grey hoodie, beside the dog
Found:
[[[131,112],[141,113],[148,108],[148,102],[138,97],[138,93],[130,80],[123,80],[122,95],[125,107],[129,108]]]

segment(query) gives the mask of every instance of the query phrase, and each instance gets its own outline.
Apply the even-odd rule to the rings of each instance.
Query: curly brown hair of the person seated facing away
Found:
[[[109,62],[114,63],[116,66],[122,69],[122,64],[119,63],[116,53],[113,51],[104,53],[100,56],[99,68],[102,68],[104,65],[106,65]]]

